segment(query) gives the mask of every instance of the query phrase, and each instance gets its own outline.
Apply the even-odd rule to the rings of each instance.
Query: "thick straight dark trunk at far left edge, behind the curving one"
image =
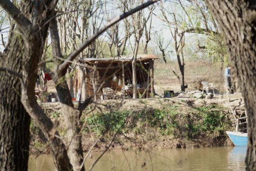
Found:
[[[21,72],[20,42],[14,37],[0,68]],[[5,56],[5,57],[4,57]],[[27,171],[30,116],[20,102],[20,78],[0,72],[0,171]]]

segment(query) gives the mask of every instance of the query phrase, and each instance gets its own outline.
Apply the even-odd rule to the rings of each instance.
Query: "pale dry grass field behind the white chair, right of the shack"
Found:
[[[170,66],[179,73],[177,62],[168,62],[166,65],[161,60],[155,61],[155,90],[160,94],[163,90],[181,90],[179,80],[173,74]],[[187,91],[195,90],[198,82],[208,81],[213,83],[219,92],[223,92],[224,69],[222,64],[211,64],[207,61],[187,62],[185,65],[185,84],[188,84]]]

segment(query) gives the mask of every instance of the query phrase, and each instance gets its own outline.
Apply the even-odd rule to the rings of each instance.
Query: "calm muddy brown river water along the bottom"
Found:
[[[93,152],[86,169],[101,152]],[[243,171],[245,147],[169,149],[161,151],[108,151],[94,171]],[[54,171],[51,155],[30,156],[29,171]]]

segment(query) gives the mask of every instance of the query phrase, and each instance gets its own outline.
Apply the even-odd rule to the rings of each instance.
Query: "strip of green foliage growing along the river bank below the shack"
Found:
[[[180,105],[162,105],[161,109],[145,109],[138,112],[91,113],[86,120],[83,132],[96,132],[98,135],[109,131],[133,132],[135,135],[154,134],[195,138],[200,135],[219,137],[224,134],[228,124],[217,105],[191,108],[191,113],[180,113]],[[151,132],[151,131],[149,131]],[[154,137],[154,136],[153,136]]]

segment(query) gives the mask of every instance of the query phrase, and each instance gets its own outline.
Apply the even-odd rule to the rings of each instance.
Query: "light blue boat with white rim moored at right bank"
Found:
[[[231,141],[236,146],[247,146],[247,133],[226,131]]]

